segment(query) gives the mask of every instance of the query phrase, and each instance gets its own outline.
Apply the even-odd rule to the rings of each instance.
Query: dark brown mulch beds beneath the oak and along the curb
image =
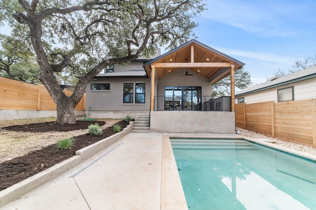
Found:
[[[27,132],[71,131],[87,129],[90,124],[96,122],[99,123],[100,126],[105,124],[104,121],[77,121],[74,125],[60,125],[53,122],[44,122],[9,126],[4,129]],[[128,122],[122,120],[116,124],[124,128],[128,125]],[[54,145],[50,145],[40,150],[29,152],[24,156],[0,163],[0,191],[76,155],[77,150],[113,134],[115,134],[115,132],[112,126],[104,129],[101,135],[83,134],[75,137],[74,147],[69,150],[56,150]]]

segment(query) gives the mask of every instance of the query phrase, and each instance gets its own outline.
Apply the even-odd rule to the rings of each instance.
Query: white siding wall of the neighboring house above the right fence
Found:
[[[262,90],[255,93],[250,93],[242,96],[236,96],[237,103],[238,98],[244,97],[245,103],[258,103],[265,101],[277,102],[277,90],[282,88],[288,88],[294,86],[294,100],[305,100],[316,98],[316,78],[292,83],[289,85],[280,86],[277,88]]]

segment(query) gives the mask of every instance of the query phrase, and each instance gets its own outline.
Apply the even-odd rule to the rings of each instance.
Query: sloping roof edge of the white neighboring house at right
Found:
[[[300,82],[303,80],[308,80],[311,78],[316,78],[316,66],[279,77],[272,81],[264,82],[255,86],[251,86],[249,88],[245,88],[243,90],[238,91],[235,94],[235,96],[242,96],[249,93],[259,92],[262,90],[268,90],[268,89]]]

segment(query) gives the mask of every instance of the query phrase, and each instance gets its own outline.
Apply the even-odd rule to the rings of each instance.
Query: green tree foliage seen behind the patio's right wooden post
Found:
[[[243,68],[235,71],[235,87],[242,90],[252,85],[250,74]],[[212,96],[230,96],[231,95],[231,77],[228,75],[214,85],[212,85]]]

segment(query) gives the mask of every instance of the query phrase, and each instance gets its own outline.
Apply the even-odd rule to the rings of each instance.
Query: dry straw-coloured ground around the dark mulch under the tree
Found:
[[[75,128],[63,131],[61,128],[55,126],[55,130],[51,125],[55,125],[55,118],[40,118],[40,119],[23,119],[23,120],[0,120],[0,163],[5,160],[11,160],[14,157],[22,156],[33,150],[39,150],[42,147],[55,144],[58,140],[79,136],[88,132],[89,124],[93,122],[82,121],[83,127],[77,124]],[[98,119],[106,121],[104,124],[99,124],[100,129],[111,127],[122,119]],[[32,123],[48,123],[47,126],[37,126],[37,131],[26,124]],[[87,125],[86,125],[87,124]],[[23,127],[16,127],[15,130],[3,129],[3,127],[13,125],[26,125]],[[65,128],[65,126],[62,126]],[[33,129],[33,131],[32,131]],[[41,129],[41,130],[39,130]]]

